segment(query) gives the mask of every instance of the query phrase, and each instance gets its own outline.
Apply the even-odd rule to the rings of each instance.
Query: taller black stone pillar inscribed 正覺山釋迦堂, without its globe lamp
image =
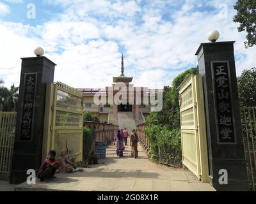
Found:
[[[234,41],[202,43],[196,52],[204,77],[205,116],[212,186],[217,191],[248,191]],[[227,184],[220,184],[227,170]],[[223,178],[221,178],[223,180]]]

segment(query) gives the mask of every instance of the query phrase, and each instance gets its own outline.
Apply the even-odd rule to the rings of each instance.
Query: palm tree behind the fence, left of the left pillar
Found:
[[[3,103],[4,103],[4,111],[6,112],[14,112],[16,109],[18,97],[19,97],[19,87],[15,87],[12,84],[10,90],[8,90],[8,95],[5,96]]]

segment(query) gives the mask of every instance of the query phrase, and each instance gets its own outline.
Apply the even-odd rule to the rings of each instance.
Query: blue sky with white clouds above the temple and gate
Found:
[[[28,18],[29,5],[35,18]],[[163,88],[195,67],[207,33],[235,40],[237,75],[255,66],[256,48],[232,21],[236,0],[3,0],[0,1],[0,78],[19,85],[20,57],[40,46],[58,64],[54,80],[76,88],[104,88],[120,75],[136,86]]]

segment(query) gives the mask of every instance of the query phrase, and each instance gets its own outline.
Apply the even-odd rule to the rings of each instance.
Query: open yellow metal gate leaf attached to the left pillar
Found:
[[[67,150],[76,161],[83,157],[83,97],[82,93],[57,82],[47,84],[42,159],[49,150],[57,155]]]

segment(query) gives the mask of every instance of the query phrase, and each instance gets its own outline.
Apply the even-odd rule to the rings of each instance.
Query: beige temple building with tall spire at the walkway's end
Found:
[[[83,92],[84,110],[97,113],[100,122],[108,122],[134,129],[141,124],[152,106],[156,106],[156,96],[161,89],[148,89],[147,87],[134,87],[132,77],[124,75],[124,57],[122,55],[121,75],[113,77],[111,87],[105,89],[77,89]],[[101,102],[100,102],[100,101]]]

